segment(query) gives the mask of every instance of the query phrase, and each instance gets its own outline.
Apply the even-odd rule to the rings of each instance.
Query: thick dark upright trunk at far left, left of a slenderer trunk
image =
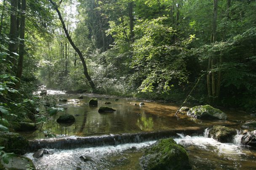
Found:
[[[18,44],[17,44],[17,0],[11,0],[11,22],[10,22],[10,40],[9,43],[9,51],[10,55],[7,57],[8,61],[11,61],[13,65],[16,63],[16,53],[18,51]]]

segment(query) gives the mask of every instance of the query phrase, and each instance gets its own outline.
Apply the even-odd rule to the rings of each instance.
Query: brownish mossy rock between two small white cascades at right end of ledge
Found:
[[[213,126],[209,131],[209,136],[219,142],[227,143],[232,142],[233,137],[237,134],[237,131],[225,126]]]

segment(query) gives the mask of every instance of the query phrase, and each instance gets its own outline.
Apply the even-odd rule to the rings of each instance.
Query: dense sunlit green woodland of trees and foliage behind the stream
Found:
[[[1,0],[0,116],[37,85],[255,110],[255,0]],[[2,119],[2,124],[5,119]]]

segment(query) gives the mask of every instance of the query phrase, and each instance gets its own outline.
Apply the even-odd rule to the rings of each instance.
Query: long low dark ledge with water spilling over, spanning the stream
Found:
[[[203,133],[203,128],[192,127],[185,129],[173,129],[169,131],[157,131],[147,133],[125,133],[125,134],[110,134],[102,136],[69,136],[63,138],[38,139],[29,141],[29,151],[33,152],[38,149],[74,149],[88,148],[96,146],[116,146],[127,143],[141,143],[144,141],[155,141],[157,139],[176,137],[177,133],[185,135],[200,135]]]

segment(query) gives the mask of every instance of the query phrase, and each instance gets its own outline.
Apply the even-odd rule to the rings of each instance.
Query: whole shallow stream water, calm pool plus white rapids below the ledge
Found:
[[[83,94],[83,99],[77,99],[78,95],[67,95],[53,90],[48,90],[48,94],[68,99],[67,102],[57,104],[67,108],[64,112],[74,115],[76,121],[69,126],[56,123],[59,115],[64,114],[59,112],[48,123],[43,124],[44,130],[59,134],[60,137],[68,136],[66,138],[45,140],[43,130],[23,133],[31,140],[43,139],[35,140],[35,145],[45,141],[51,143],[45,145],[51,148],[50,154],[39,159],[32,157],[33,152],[26,154],[38,170],[140,170],[139,158],[143,149],[165,137],[173,137],[185,147],[193,169],[256,169],[256,151],[240,146],[241,135],[235,136],[233,143],[223,144],[205,137],[202,131],[217,124],[240,129],[241,121],[253,118],[249,114],[224,110],[228,120],[200,121],[181,114],[176,117],[174,114],[178,105],[173,104],[116,100],[114,97],[96,94]],[[98,107],[88,105],[91,98],[98,98]],[[111,104],[104,104],[105,102]],[[139,105],[139,102],[144,102],[145,105]],[[112,107],[116,112],[99,114],[100,106]],[[101,143],[99,139],[105,141]],[[53,144],[52,141],[56,142]],[[88,141],[93,144],[85,145]],[[91,157],[91,160],[84,162],[80,159],[83,155]]]

